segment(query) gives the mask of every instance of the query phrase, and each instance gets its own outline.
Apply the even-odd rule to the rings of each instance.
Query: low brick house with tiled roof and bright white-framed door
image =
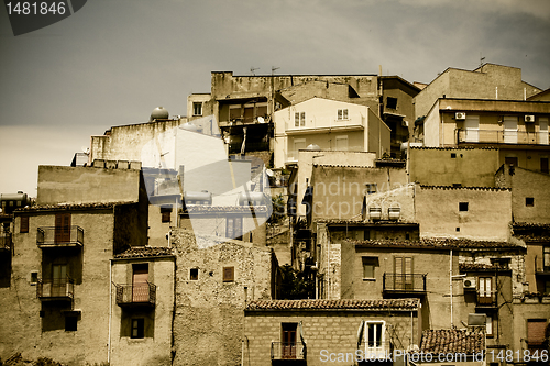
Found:
[[[419,343],[419,308],[418,299],[250,301],[242,365],[392,365]]]

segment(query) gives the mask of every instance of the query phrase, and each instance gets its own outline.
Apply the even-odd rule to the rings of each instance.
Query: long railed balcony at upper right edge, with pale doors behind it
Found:
[[[548,132],[525,132],[503,130],[457,130],[459,144],[516,144],[548,145]]]

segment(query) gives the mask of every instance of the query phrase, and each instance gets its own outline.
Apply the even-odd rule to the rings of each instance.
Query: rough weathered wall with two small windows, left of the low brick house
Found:
[[[172,240],[175,364],[240,365],[245,302],[271,298],[271,249],[238,241],[217,244],[206,236],[197,243],[186,230],[173,231]],[[234,267],[234,281],[223,282],[223,267]],[[190,280],[191,268],[198,269],[198,280]]]

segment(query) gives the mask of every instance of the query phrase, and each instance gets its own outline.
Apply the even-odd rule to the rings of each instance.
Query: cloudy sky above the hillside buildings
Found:
[[[549,0],[91,0],[13,36],[0,9],[0,193],[36,195],[112,125],[186,114],[210,71],[377,74],[430,82],[448,67],[515,66],[550,87]]]

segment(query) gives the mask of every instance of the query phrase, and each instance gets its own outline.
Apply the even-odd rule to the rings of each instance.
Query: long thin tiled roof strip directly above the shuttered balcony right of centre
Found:
[[[348,241],[359,247],[410,248],[524,248],[520,243],[472,241],[469,239],[421,239],[419,241],[369,240]]]

